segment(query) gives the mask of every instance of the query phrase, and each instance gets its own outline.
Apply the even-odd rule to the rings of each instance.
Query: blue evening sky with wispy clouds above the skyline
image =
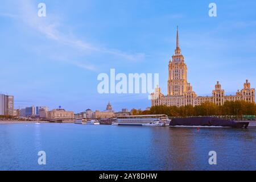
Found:
[[[38,4],[46,4],[46,17]],[[208,15],[209,3],[217,16]],[[1,0],[0,93],[15,108],[58,106],[145,109],[148,94],[100,94],[100,73],[159,73],[167,94],[168,61],[179,43],[188,81],[210,96],[216,81],[226,94],[256,87],[256,1]]]

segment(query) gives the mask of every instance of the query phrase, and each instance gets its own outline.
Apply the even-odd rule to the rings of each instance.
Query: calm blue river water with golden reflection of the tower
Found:
[[[46,165],[38,152],[46,152]],[[209,151],[217,152],[210,165]],[[255,170],[256,127],[0,125],[0,170]]]

